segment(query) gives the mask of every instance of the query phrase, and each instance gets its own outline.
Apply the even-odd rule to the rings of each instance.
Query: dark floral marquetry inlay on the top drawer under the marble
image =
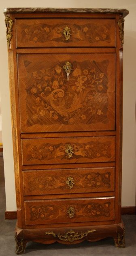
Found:
[[[67,25],[67,26],[66,26]],[[85,24],[21,24],[21,41],[34,43],[44,43],[47,41],[56,42],[79,42],[79,41],[89,41],[94,42],[110,42],[110,29],[111,25],[107,22],[106,24],[95,24],[95,23],[85,23]],[[68,30],[68,39],[63,35],[64,31]],[[70,37],[71,35],[71,37]]]

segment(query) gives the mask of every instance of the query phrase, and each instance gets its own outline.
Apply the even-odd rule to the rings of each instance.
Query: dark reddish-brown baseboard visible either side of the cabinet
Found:
[[[121,214],[134,215],[136,214],[136,206],[123,206],[121,207]],[[5,211],[5,219],[17,219],[17,211]]]

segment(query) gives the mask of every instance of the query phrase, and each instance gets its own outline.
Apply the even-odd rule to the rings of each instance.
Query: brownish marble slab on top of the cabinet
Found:
[[[6,8],[7,13],[40,13],[40,12],[60,12],[60,13],[121,13],[125,17],[129,11],[126,9],[101,9],[101,8]]]

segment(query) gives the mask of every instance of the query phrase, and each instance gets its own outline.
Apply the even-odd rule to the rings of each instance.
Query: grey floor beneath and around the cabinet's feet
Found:
[[[5,190],[3,158],[0,157],[0,256],[14,256],[15,240],[14,229],[16,220],[5,220]],[[33,256],[96,256],[96,255],[123,255],[136,256],[136,215],[123,215],[125,224],[126,247],[117,249],[112,238],[103,239],[98,242],[89,243],[84,241],[77,245],[62,245],[54,243],[44,245],[29,242],[26,247],[26,255]]]

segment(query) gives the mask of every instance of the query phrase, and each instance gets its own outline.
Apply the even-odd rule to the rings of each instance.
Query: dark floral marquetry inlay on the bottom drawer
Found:
[[[58,201],[57,201],[58,202]],[[64,217],[65,219],[78,218],[87,216],[89,218],[95,217],[110,217],[110,202],[97,203],[97,202],[81,202],[72,201],[72,204],[68,204],[68,201],[62,204],[61,201],[53,202],[53,204],[43,204],[43,205],[31,205],[30,210],[30,221],[35,221],[37,219],[47,220],[47,219],[58,219]],[[60,204],[61,202],[61,204]]]

